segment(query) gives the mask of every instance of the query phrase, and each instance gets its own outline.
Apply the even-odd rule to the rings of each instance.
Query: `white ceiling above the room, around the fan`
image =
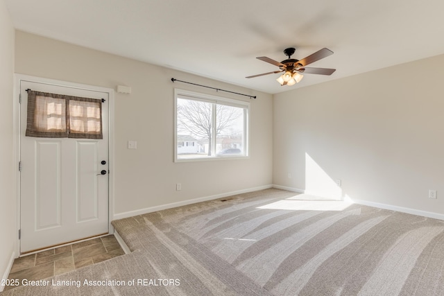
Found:
[[[275,94],[444,53],[443,0],[4,0],[18,30]],[[281,87],[278,67],[334,55]],[[418,69],[420,71],[420,69]],[[180,77],[177,77],[180,79]]]

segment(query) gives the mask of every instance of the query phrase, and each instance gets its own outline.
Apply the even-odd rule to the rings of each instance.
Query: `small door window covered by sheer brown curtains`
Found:
[[[27,137],[103,139],[102,101],[28,90]]]

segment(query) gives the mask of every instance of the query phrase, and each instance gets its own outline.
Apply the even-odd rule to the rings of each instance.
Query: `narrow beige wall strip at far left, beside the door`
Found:
[[[0,0],[0,279],[15,250],[14,28]],[[0,287],[0,290],[3,287]]]

